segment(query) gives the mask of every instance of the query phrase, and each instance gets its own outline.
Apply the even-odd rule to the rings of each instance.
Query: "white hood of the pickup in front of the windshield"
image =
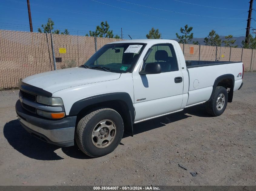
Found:
[[[120,75],[119,73],[76,67],[32,75],[22,81],[26,84],[54,93],[65,88],[83,84],[115,80],[118,79]]]

